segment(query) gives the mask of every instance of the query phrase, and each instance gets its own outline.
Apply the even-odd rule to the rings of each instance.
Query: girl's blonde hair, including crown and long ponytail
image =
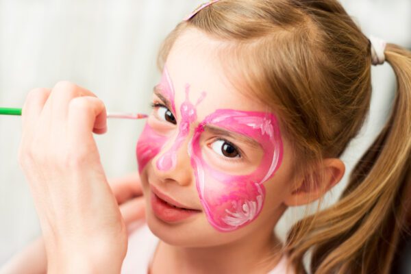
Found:
[[[227,42],[227,64],[277,112],[308,177],[358,134],[371,100],[371,45],[338,1],[221,0],[177,25],[160,68],[188,27]],[[411,53],[388,44],[385,55],[397,75],[393,112],[340,200],[292,227],[286,250],[297,273],[310,249],[312,273],[390,272],[411,180]]]

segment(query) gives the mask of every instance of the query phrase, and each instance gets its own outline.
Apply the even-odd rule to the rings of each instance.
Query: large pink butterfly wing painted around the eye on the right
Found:
[[[256,140],[264,155],[258,168],[248,175],[232,175],[204,160],[200,137],[208,125],[227,129]],[[282,140],[273,114],[216,110],[195,129],[189,154],[201,204],[211,225],[230,232],[256,219],[264,203],[262,185],[282,162]]]

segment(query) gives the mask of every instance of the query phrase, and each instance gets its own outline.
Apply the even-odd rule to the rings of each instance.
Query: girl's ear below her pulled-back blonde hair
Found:
[[[302,206],[319,199],[325,192],[335,186],[345,173],[345,165],[338,158],[327,158],[314,169],[311,175],[306,175],[291,188],[288,197],[284,199],[286,206]]]

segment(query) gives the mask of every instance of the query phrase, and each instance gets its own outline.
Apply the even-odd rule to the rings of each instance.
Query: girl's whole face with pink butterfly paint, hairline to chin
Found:
[[[219,45],[195,29],[179,36],[138,140],[147,223],[172,245],[221,245],[269,231],[292,192],[279,119],[231,84]]]

